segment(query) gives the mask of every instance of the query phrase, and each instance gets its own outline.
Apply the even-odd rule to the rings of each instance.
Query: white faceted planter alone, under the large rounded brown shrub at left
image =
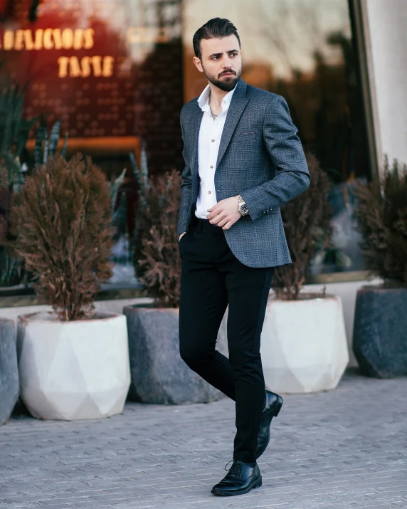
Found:
[[[120,414],[130,384],[125,315],[62,322],[53,313],[18,316],[21,399],[39,419]]]

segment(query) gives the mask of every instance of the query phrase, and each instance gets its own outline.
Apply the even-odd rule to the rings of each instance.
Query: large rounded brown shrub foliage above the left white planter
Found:
[[[112,276],[110,195],[90,157],[49,157],[16,196],[15,250],[35,274],[33,287],[60,320],[94,309],[100,283]]]

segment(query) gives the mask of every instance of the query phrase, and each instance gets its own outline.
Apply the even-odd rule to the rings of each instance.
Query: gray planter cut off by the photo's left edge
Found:
[[[0,424],[5,424],[20,394],[13,320],[0,318]]]

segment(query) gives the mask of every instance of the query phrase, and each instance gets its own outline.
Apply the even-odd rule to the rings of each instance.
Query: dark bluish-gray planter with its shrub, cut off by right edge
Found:
[[[384,160],[378,182],[356,187],[355,216],[366,266],[383,278],[356,296],[353,350],[361,372],[407,374],[407,165]]]

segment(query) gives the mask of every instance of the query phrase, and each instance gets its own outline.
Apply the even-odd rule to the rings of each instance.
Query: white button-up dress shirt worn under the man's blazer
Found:
[[[199,196],[196,201],[195,215],[200,219],[208,219],[206,217],[209,214],[208,209],[211,209],[217,203],[215,189],[216,161],[218,159],[226,114],[236,87],[223,98],[222,112],[219,113],[215,120],[212,118],[211,108],[209,107],[209,90],[211,89],[208,85],[198,99],[198,104],[203,111],[203,115],[198,141],[198,167],[201,182]]]

